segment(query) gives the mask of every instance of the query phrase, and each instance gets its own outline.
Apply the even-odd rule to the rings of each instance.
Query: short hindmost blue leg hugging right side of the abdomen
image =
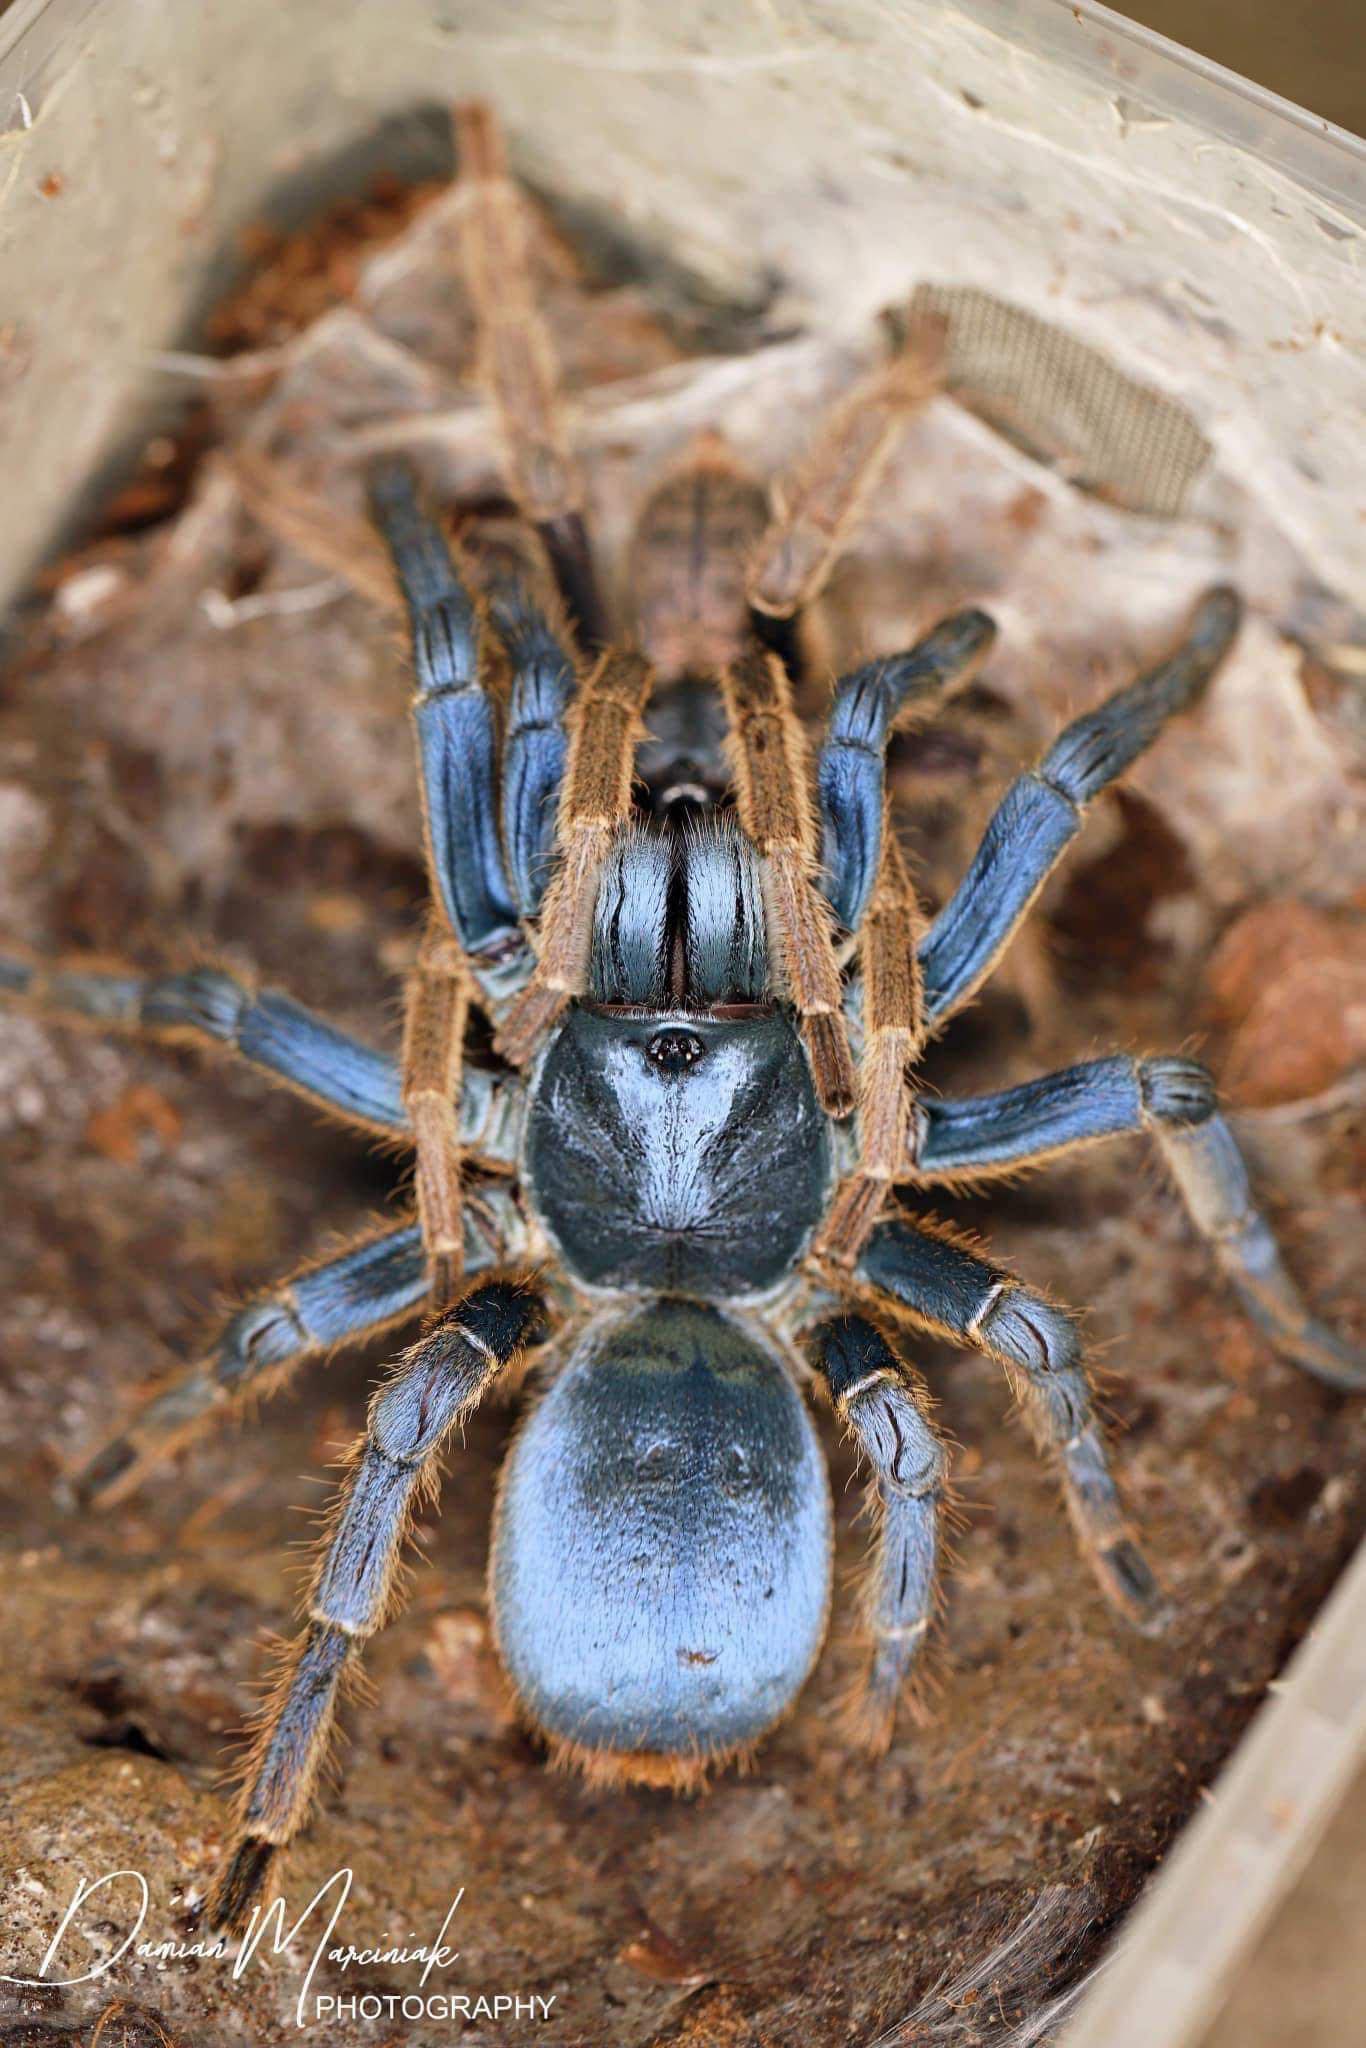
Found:
[[[948,1458],[928,1397],[887,1337],[862,1315],[819,1323],[811,1337],[836,1415],[872,1468],[877,1536],[862,1581],[862,1622],[872,1642],[850,1702],[852,1731],[887,1749],[897,1702],[934,1620],[938,1536]]]

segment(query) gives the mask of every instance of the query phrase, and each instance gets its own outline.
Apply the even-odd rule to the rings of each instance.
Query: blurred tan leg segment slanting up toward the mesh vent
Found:
[[[850,391],[774,498],[750,563],[750,604],[791,618],[819,596],[905,422],[940,387],[944,330],[920,322],[901,352]]]

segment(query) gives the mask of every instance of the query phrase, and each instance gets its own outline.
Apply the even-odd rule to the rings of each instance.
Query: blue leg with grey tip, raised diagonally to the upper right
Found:
[[[1153,745],[1167,719],[1196,702],[1229,651],[1241,614],[1237,592],[1208,590],[1169,659],[1075,719],[1038,768],[1012,782],[967,874],[920,946],[932,1026],[961,1010],[991,973],[1081,829],[1085,805]]]

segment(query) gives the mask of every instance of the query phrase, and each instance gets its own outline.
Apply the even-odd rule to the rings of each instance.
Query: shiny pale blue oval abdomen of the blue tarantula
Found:
[[[700,1303],[582,1341],[518,1432],[494,1524],[498,1647],[551,1749],[680,1784],[754,1745],[815,1663],[829,1483],[776,1356]]]

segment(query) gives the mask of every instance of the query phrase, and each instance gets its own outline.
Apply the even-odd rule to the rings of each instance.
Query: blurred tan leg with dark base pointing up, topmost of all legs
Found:
[[[508,489],[549,555],[561,596],[586,647],[606,645],[584,483],[569,446],[555,350],[526,254],[524,199],[508,176],[494,111],[455,109],[461,262],[475,311],[479,375],[502,428]]]

